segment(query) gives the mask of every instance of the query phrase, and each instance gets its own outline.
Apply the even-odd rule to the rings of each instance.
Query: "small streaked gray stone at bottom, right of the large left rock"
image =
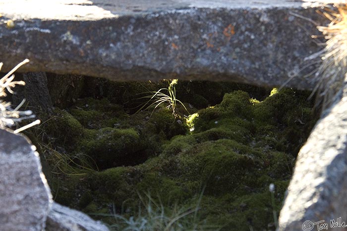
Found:
[[[53,203],[47,218],[46,231],[109,231],[100,221],[87,215]]]

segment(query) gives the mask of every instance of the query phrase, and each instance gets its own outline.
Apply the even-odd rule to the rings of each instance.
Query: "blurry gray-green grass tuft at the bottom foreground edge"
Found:
[[[173,208],[166,208],[161,200],[159,203],[146,193],[144,198],[138,193],[143,206],[138,214],[126,218],[116,214],[94,214],[113,217],[115,224],[109,225],[112,231],[220,231],[223,226],[211,225],[207,220],[200,220],[198,210],[202,199],[200,194],[197,204],[193,208],[183,208],[175,204]],[[144,211],[141,210],[144,208]]]

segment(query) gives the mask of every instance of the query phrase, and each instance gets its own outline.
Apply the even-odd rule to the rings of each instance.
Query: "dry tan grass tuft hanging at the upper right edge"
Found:
[[[329,5],[327,3],[330,1],[318,2],[323,3],[324,10],[317,12],[328,18],[330,23],[328,26],[317,26],[327,41],[323,43],[325,47],[322,51],[308,57],[321,59],[321,65],[314,75],[317,85],[310,97],[317,93],[316,105],[321,104],[326,109],[343,89],[347,73],[347,4]]]

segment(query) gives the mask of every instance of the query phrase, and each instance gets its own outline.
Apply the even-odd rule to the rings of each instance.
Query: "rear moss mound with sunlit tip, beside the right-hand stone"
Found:
[[[253,118],[258,139],[281,152],[294,156],[317,121],[309,92],[283,89],[254,105]]]

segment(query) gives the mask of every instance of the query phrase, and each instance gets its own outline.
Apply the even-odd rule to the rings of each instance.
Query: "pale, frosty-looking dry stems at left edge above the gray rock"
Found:
[[[24,81],[13,81],[13,73],[22,65],[28,62],[29,60],[25,59],[0,79],[0,98],[7,96],[6,90],[10,94],[14,94],[15,92],[12,90],[13,87],[15,87],[16,85],[25,85]],[[0,70],[2,68],[2,65],[3,64],[0,63]],[[19,108],[24,104],[24,102],[25,99],[23,99],[23,101],[16,108],[12,109],[10,102],[0,100],[0,129],[11,128],[14,125],[18,126],[18,123],[23,120],[35,118],[35,115],[33,115],[33,112],[31,110],[19,110]],[[40,124],[40,120],[35,120],[34,122],[28,125],[18,128],[14,130],[13,133],[19,133],[37,124]]]

